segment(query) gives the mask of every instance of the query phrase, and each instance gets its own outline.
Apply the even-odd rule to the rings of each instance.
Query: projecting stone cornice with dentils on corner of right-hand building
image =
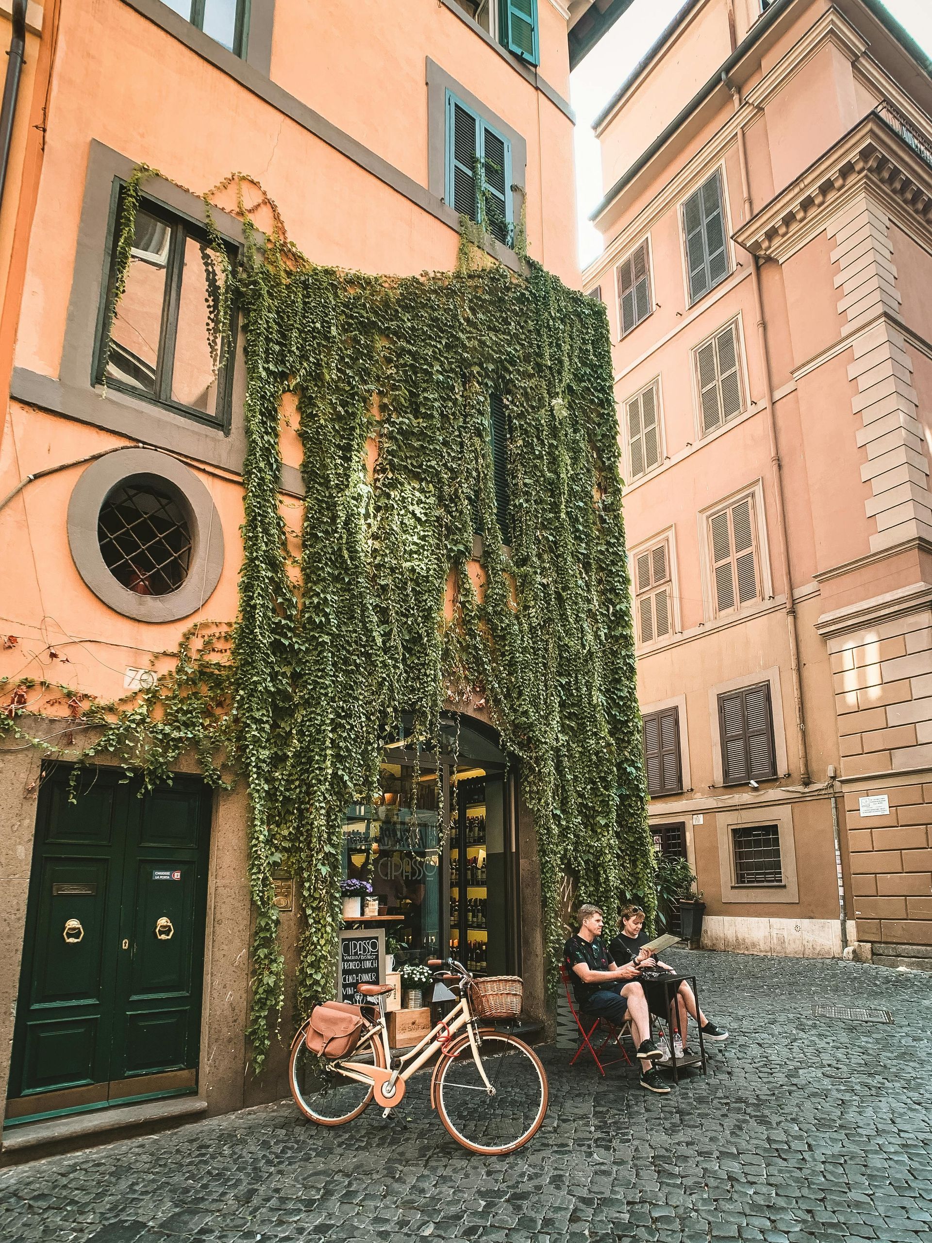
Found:
[[[865,184],[932,230],[932,167],[870,113],[732,237],[753,255],[784,262]]]

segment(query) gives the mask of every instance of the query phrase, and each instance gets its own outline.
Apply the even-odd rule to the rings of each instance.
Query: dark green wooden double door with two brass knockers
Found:
[[[196,1086],[210,793],[42,783],[7,1120]]]

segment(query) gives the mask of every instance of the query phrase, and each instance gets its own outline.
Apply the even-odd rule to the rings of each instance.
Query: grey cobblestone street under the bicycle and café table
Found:
[[[732,1032],[666,1098],[543,1050],[551,1108],[518,1154],[472,1156],[427,1079],[343,1129],[290,1103],[0,1173],[0,1239],[932,1239],[932,976],[669,955]],[[877,1007],[892,1025],[813,1017]]]

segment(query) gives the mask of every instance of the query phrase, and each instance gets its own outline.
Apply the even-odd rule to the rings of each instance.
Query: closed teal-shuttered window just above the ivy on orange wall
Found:
[[[513,245],[511,142],[446,92],[446,201],[496,241]]]

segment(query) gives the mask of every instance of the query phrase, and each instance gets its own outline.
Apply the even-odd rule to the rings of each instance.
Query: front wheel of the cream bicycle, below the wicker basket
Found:
[[[437,1111],[455,1140],[472,1152],[513,1152],[531,1139],[547,1112],[547,1074],[523,1040],[482,1032],[480,1073],[468,1038],[450,1050],[440,1068]]]

